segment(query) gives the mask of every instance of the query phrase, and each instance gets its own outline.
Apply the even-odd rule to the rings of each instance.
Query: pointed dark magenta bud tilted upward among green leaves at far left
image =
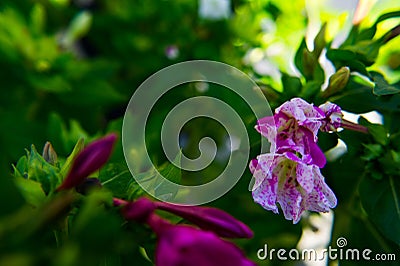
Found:
[[[78,154],[72,167],[57,191],[80,185],[90,174],[100,169],[110,158],[116,134],[110,134],[89,144]]]

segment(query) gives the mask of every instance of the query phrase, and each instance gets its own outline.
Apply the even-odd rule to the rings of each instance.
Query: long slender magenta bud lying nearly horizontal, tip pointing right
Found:
[[[251,238],[253,232],[244,223],[230,214],[210,207],[179,206],[166,202],[156,202],[157,208],[181,216],[189,222],[221,237]]]

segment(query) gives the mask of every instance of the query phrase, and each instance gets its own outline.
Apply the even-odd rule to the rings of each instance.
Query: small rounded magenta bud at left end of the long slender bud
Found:
[[[114,200],[114,204],[115,204]],[[126,220],[146,222],[147,218],[154,212],[156,206],[154,202],[147,198],[140,198],[133,202],[127,202],[122,208],[122,215]]]

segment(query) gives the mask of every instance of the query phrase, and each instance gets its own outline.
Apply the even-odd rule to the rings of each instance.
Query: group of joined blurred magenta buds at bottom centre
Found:
[[[179,206],[140,198],[133,202],[114,199],[126,220],[146,223],[157,235],[155,264],[159,266],[252,266],[243,252],[221,237],[250,238],[253,233],[242,222],[215,208]],[[174,225],[155,214],[164,210],[197,225]]]

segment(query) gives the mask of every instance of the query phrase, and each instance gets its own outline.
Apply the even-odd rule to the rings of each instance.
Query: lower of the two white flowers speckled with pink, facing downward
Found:
[[[328,212],[337,204],[318,166],[309,165],[292,153],[262,154],[250,163],[258,184],[254,201],[266,210],[279,213],[297,223],[304,211]]]

